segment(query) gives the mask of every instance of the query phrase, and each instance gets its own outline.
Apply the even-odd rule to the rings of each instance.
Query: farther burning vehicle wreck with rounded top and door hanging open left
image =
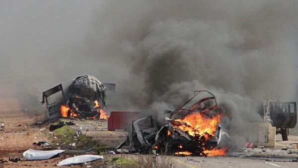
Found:
[[[43,92],[41,103],[46,103],[49,118],[62,116],[107,119],[104,111],[105,92],[115,92],[115,86],[113,83],[101,83],[93,76],[83,75],[73,80],[66,93],[62,84]],[[50,103],[50,96],[58,92],[61,92],[62,96],[55,97],[54,100],[57,102]]]

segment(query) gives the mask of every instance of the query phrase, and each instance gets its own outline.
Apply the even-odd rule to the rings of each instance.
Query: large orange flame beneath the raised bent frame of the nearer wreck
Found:
[[[191,136],[195,136],[195,134],[199,134],[201,137],[207,134],[214,136],[220,115],[218,118],[216,116],[206,118],[204,115],[201,112],[193,112],[186,115],[183,119],[175,119],[175,121],[185,122],[190,125],[180,125],[178,128],[187,131]],[[205,136],[205,138],[208,140],[208,136]]]

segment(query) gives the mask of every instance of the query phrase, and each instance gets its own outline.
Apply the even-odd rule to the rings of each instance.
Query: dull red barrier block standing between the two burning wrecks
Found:
[[[127,124],[137,119],[140,112],[111,112],[108,118],[108,131],[125,129]]]

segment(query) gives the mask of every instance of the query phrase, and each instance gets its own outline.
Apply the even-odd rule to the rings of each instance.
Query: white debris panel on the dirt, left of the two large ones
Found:
[[[43,160],[43,159],[51,159],[59,156],[60,153],[64,152],[64,150],[50,150],[50,151],[41,151],[29,149],[23,153],[23,157],[26,160]]]

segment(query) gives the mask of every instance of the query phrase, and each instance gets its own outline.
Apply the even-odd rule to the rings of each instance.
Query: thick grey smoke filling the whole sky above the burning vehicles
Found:
[[[209,90],[237,134],[257,101],[296,100],[295,0],[30,2],[1,2],[0,74],[33,75],[40,91],[90,74],[117,84],[108,111],[162,118]]]

